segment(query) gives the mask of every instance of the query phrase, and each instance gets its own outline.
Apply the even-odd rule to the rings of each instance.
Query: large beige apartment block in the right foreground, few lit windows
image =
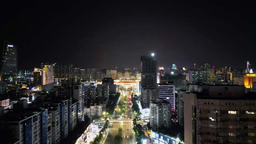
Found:
[[[244,86],[202,85],[183,93],[185,144],[250,144],[256,135],[256,95]]]

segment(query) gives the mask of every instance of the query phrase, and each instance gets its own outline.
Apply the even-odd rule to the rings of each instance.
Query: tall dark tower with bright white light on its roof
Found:
[[[156,59],[151,56],[141,56],[141,87],[156,88]]]

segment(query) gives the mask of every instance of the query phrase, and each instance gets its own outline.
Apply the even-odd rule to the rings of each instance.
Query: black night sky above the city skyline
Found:
[[[42,62],[80,68],[158,65],[256,67],[256,4],[1,2],[0,40],[18,46],[20,69]]]

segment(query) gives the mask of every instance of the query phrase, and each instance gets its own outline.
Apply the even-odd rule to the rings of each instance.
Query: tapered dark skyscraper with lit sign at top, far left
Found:
[[[17,83],[17,46],[4,41],[4,46],[0,52],[0,55],[0,80],[7,85]]]

